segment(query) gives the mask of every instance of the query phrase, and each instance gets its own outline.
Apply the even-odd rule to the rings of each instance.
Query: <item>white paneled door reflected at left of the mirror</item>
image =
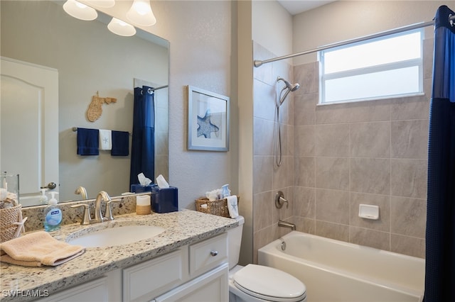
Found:
[[[0,169],[19,174],[30,206],[41,186],[58,185],[58,71],[1,57],[0,72]]]

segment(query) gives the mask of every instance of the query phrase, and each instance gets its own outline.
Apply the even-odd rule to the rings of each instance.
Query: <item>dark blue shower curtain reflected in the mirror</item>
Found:
[[[138,184],[137,175],[155,179],[155,104],[149,86],[134,88],[133,135],[129,184]]]

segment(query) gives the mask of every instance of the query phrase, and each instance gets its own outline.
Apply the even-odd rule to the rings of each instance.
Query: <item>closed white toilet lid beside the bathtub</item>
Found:
[[[234,275],[237,289],[269,301],[301,301],[306,286],[299,279],[273,267],[248,264]]]

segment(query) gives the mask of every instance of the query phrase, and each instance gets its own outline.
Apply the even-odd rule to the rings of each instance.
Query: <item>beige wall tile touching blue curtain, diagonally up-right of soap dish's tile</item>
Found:
[[[391,194],[427,198],[427,160],[391,160]]]

